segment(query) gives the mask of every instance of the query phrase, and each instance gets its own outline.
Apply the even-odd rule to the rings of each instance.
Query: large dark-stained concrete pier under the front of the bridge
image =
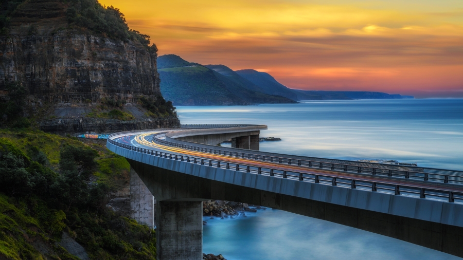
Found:
[[[203,203],[158,201],[157,206],[157,260],[202,259]]]

